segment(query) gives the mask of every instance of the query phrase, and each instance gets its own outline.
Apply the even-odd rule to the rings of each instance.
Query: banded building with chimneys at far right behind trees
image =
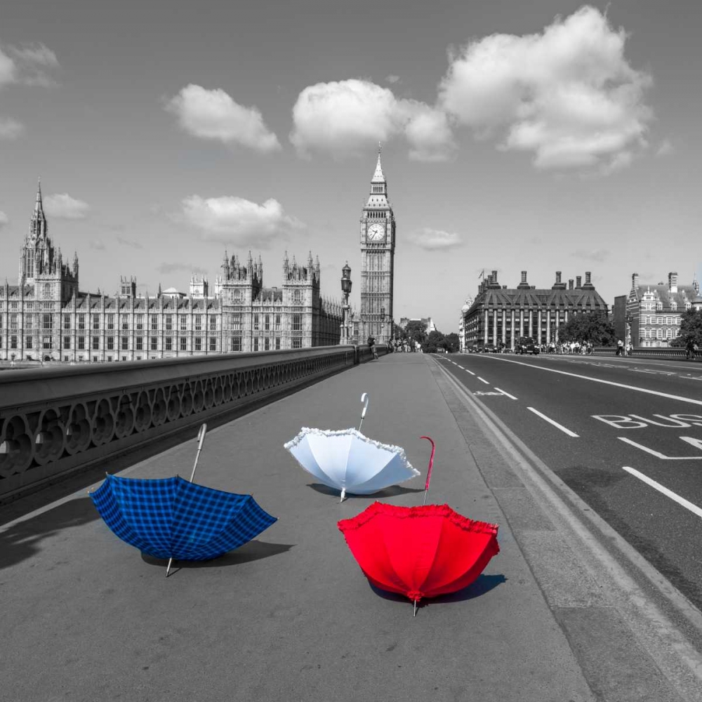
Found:
[[[626,298],[625,336],[633,346],[667,347],[680,333],[682,312],[701,309],[696,274],[689,285],[679,285],[677,273],[668,273],[668,284],[642,285],[631,276]]]

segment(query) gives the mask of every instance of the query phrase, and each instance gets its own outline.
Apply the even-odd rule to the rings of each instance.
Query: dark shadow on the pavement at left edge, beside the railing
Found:
[[[0,531],[0,568],[8,568],[39,553],[41,541],[69,527],[100,519],[91,498],[69,500],[51,510]]]

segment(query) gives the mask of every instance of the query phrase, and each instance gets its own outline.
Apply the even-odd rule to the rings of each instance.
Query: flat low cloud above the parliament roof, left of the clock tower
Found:
[[[243,197],[203,199],[191,195],[183,200],[182,207],[182,218],[187,223],[202,230],[207,239],[217,241],[265,246],[272,239],[303,227],[299,220],[286,215],[274,199],[259,205]]]

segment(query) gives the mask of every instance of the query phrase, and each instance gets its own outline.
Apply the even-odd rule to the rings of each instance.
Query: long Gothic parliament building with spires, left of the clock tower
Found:
[[[169,288],[138,296],[135,277],[114,295],[79,289],[78,256],[64,263],[48,236],[37,188],[20,248],[18,284],[0,286],[0,359],[138,361],[228,352],[335,345],[341,304],[320,293],[319,260],[286,253],[280,287],[265,287],[260,256],[225,258],[214,290],[193,275],[187,293]]]

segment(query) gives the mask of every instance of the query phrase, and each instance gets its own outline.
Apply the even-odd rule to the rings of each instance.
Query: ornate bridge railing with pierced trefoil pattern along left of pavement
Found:
[[[367,345],[326,346],[2,371],[0,501],[370,357]]]

